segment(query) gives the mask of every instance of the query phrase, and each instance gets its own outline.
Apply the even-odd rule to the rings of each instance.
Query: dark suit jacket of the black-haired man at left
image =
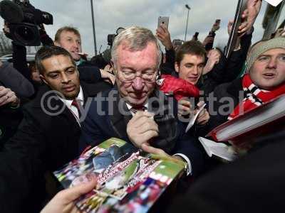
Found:
[[[100,91],[98,84],[81,87],[85,101]],[[65,107],[62,113],[50,116],[43,111],[41,105],[48,109],[48,98],[41,100],[48,91],[41,87],[37,97],[26,104],[18,131],[0,153],[0,212],[23,212],[25,207],[28,212],[38,211],[45,196],[43,174],[78,156],[81,127],[60,99],[51,99],[51,107]]]

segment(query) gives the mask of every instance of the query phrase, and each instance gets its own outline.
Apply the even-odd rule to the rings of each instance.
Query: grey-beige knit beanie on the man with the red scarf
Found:
[[[247,55],[247,71],[249,72],[254,62],[259,58],[259,55],[266,52],[267,50],[271,50],[274,48],[285,48],[285,38],[284,37],[277,37],[272,38],[270,40],[264,40],[252,47],[249,50],[249,54]]]

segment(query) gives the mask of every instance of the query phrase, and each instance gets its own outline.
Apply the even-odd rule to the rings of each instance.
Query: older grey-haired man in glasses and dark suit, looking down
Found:
[[[117,84],[90,104],[81,150],[117,137],[147,153],[185,160],[187,175],[199,173],[202,151],[193,138],[183,138],[175,100],[155,88],[161,61],[157,38],[146,28],[128,28],[116,36],[111,54]]]

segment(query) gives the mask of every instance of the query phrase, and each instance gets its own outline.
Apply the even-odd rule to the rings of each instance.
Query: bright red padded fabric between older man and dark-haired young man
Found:
[[[157,84],[162,92],[172,93],[177,101],[183,97],[199,97],[199,89],[195,85],[172,75],[162,75]]]

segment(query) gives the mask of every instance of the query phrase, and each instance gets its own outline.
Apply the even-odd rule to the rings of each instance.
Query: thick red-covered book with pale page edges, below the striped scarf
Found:
[[[217,126],[207,136],[215,141],[230,141],[235,146],[250,146],[258,138],[285,129],[285,95]]]

